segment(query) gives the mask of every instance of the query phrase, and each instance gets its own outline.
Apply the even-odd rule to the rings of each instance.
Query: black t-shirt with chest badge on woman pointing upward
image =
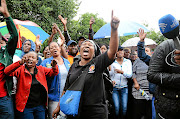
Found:
[[[66,91],[70,85],[81,75],[81,73],[86,73],[84,78],[80,80],[85,80],[83,89],[83,106],[101,106],[105,99],[104,97],[104,80],[102,78],[103,71],[113,62],[108,58],[107,52],[101,54],[91,60],[84,66],[79,65],[77,60],[71,66],[69,74],[67,76],[66,84],[64,90]],[[88,71],[84,71],[84,70]],[[84,74],[83,74],[84,75]]]

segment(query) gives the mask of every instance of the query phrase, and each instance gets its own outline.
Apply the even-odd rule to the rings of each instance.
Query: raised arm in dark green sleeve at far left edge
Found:
[[[1,0],[1,7],[0,12],[3,13],[5,19],[8,31],[10,33],[10,38],[8,40],[7,49],[8,53],[13,56],[16,50],[17,42],[18,42],[18,32],[16,29],[16,26],[13,22],[13,19],[10,17],[10,14],[7,9],[6,0]]]

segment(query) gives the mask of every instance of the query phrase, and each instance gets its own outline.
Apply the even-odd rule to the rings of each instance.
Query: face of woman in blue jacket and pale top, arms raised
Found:
[[[50,49],[51,55],[52,55],[53,57],[58,57],[58,56],[60,56],[61,49],[60,49],[59,45],[58,45],[56,42],[52,42],[52,43],[49,45],[49,49]]]

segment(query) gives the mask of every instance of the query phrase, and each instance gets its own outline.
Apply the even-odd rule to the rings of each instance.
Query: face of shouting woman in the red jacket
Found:
[[[29,52],[26,55],[26,65],[28,68],[32,68],[35,67],[36,64],[38,63],[38,59],[37,59],[37,54],[35,52]]]

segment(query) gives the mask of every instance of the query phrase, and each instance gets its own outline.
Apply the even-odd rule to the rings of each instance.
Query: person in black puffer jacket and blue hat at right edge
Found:
[[[155,107],[157,118],[180,117],[180,44],[179,23],[170,14],[159,19],[161,33],[168,38],[153,53],[148,80],[156,84]]]

